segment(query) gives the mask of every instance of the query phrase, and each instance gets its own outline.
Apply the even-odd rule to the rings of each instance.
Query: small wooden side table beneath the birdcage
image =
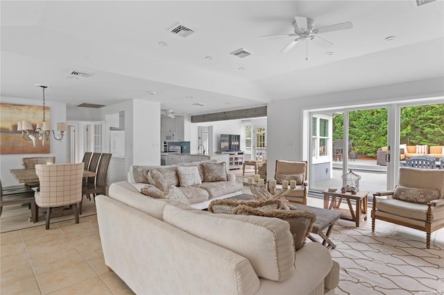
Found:
[[[362,218],[367,220],[368,193],[369,192],[366,191],[359,191],[357,194],[352,194],[350,192],[341,193],[341,189],[338,189],[336,192],[323,192],[324,208],[341,212],[341,219],[355,221],[356,226],[359,227]],[[342,199],[347,200],[348,210],[339,208]],[[351,200],[356,201],[355,210],[353,210]]]

